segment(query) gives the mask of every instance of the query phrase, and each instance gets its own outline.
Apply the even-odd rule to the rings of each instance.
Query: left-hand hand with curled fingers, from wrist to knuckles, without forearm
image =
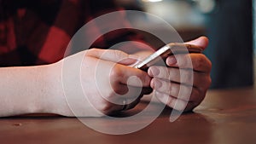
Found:
[[[74,70],[72,66],[81,64],[78,57],[83,59],[80,69],[81,76],[73,75]],[[67,79],[70,83],[70,90],[78,89],[76,87],[73,88],[73,85],[76,85],[73,84],[74,81],[76,82],[73,79],[81,78],[79,80],[84,89],[84,95],[79,96],[79,98],[86,96],[89,100],[83,101],[78,98],[77,101],[74,101],[75,105],[73,106],[75,106],[76,111],[79,111],[79,116],[95,117],[102,116],[102,113],[112,114],[113,112],[119,112],[124,108],[124,100],[127,100],[127,103],[131,102],[126,107],[130,109],[137,105],[143,94],[150,91],[146,88],[142,90],[142,87],[149,88],[151,78],[148,76],[148,73],[132,68],[130,65],[137,61],[136,58],[132,58],[132,55],[122,51],[89,49],[67,57],[65,60],[68,63],[67,73],[70,73],[70,77]],[[61,62],[58,65],[60,64]],[[75,94],[76,90],[73,91],[74,94],[72,96],[79,95]],[[90,107],[90,104],[92,104],[92,107]],[[73,116],[73,113],[68,111],[67,108],[67,105],[58,107],[57,113]],[[94,108],[102,113],[96,113]]]

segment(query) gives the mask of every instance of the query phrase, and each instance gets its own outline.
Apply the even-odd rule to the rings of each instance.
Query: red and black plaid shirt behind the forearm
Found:
[[[112,1],[102,0],[0,0],[0,9],[0,66],[43,65],[61,60],[80,27],[97,16],[120,10]],[[129,25],[123,19],[119,20],[121,25]],[[95,24],[87,32],[88,36],[101,35],[90,48],[108,49],[119,42],[143,41],[131,30],[101,34],[101,28],[102,24]],[[131,53],[147,48],[134,44],[119,49]]]

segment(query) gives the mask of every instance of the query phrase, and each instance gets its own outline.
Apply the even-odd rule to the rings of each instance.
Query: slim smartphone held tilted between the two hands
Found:
[[[135,68],[146,70],[149,66],[154,65],[159,60],[165,60],[169,55],[186,54],[186,53],[201,53],[203,49],[199,46],[186,43],[169,43],[158,49],[154,54],[149,55],[143,61],[137,63]]]

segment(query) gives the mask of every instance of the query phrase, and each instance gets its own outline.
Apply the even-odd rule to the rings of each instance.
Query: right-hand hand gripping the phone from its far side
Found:
[[[206,49],[208,39],[199,37],[188,43]],[[189,66],[188,58],[191,59],[193,67]],[[167,57],[166,65],[167,68],[164,66],[148,68],[148,75],[153,77],[150,86],[154,89],[154,95],[168,107],[180,111],[190,111],[198,106],[211,84],[211,61],[203,54],[180,54]],[[181,81],[179,71],[185,73],[183,81]],[[193,84],[189,84],[191,78],[194,78]],[[192,89],[191,93],[190,89]],[[181,95],[178,96],[179,92]]]

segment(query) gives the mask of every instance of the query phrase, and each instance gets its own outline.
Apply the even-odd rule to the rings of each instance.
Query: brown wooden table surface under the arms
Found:
[[[136,109],[146,105],[141,103]],[[135,110],[136,111],[136,110]],[[106,135],[84,126],[77,118],[60,116],[0,118],[0,143],[196,143],[256,142],[256,89],[210,90],[194,112],[170,123],[172,110],[143,130],[128,135]],[[128,112],[129,115],[129,112]],[[102,124],[103,118],[90,118]],[[133,121],[131,124],[141,122]],[[129,124],[123,121],[114,124]]]

